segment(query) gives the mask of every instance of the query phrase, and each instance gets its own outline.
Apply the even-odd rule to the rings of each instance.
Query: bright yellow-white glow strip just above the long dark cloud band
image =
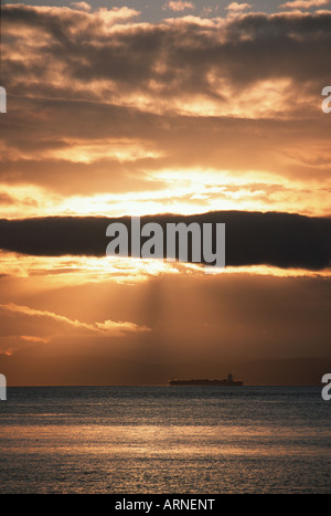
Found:
[[[194,214],[217,210],[287,211],[308,215],[329,215],[328,183],[310,180],[314,196],[309,198],[309,187],[301,181],[287,181],[267,173],[246,172],[234,178],[231,171],[220,170],[163,170],[154,173],[163,188],[143,192],[95,193],[92,196],[62,196],[32,186],[0,188],[0,218],[93,215],[122,217],[158,213]],[[151,186],[152,186],[152,180]],[[1,193],[2,192],[2,193]],[[317,206],[318,202],[318,206]]]

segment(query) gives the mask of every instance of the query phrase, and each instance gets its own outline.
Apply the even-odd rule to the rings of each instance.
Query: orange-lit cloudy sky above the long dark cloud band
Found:
[[[153,24],[126,6],[3,8],[1,217],[330,213],[331,13],[172,3],[188,9]]]

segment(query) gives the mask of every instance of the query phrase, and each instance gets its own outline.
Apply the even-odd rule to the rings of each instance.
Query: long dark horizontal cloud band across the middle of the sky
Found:
[[[104,256],[110,222],[130,219],[45,218],[0,221],[0,248],[32,255]],[[282,268],[322,270],[331,263],[331,219],[290,213],[214,212],[194,217],[157,215],[141,218],[141,224],[158,222],[224,222],[226,265],[266,264]]]

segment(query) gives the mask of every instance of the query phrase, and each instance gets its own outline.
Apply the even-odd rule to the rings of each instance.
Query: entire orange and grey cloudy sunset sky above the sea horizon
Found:
[[[320,382],[330,28],[329,0],[2,2],[9,383],[163,382],[228,365],[258,383],[266,364],[273,382],[305,383],[300,360],[320,361]],[[225,270],[106,256],[107,221],[130,217],[225,222]]]

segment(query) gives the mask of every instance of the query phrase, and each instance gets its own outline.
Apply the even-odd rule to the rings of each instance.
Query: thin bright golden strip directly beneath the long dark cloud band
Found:
[[[193,263],[167,263],[163,260],[137,260],[116,256],[21,256],[0,253],[0,276],[33,281],[36,292],[44,288],[104,282],[139,284],[151,277],[173,274],[206,276],[202,265]],[[330,277],[331,270],[307,271],[303,268],[279,268],[268,265],[226,266],[224,274],[275,275],[278,277]],[[212,277],[212,276],[211,276]],[[212,281],[212,280],[211,280]]]

